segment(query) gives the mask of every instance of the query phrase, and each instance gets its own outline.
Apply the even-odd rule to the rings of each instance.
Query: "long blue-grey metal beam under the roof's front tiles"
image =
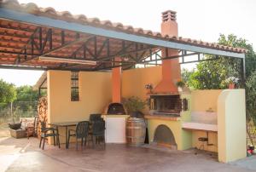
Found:
[[[97,35],[102,37],[111,37],[136,43],[145,43],[153,46],[164,47],[168,49],[182,49],[191,52],[203,53],[203,54],[215,54],[223,55],[235,58],[245,58],[244,53],[236,53],[230,51],[224,51],[221,49],[210,49],[201,46],[195,46],[187,43],[176,43],[174,41],[167,41],[163,39],[157,39],[154,37],[144,37],[136,34],[129,34],[126,32],[119,32],[108,30],[96,26],[86,26],[79,23],[67,22],[64,20],[56,20],[44,16],[38,16],[34,14],[27,14],[17,12],[11,9],[0,8],[0,18],[6,20],[16,20],[28,24],[38,25],[38,26],[49,26],[53,28],[65,29],[73,32],[82,32],[91,35]]]

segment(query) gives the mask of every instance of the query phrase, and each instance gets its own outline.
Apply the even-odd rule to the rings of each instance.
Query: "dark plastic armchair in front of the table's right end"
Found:
[[[81,121],[77,124],[76,129],[69,129],[68,130],[68,140],[67,140],[67,148],[69,146],[70,137],[76,137],[76,150],[78,150],[79,142],[78,140],[81,139],[81,146],[86,145],[86,138],[88,135],[89,130],[89,121]]]

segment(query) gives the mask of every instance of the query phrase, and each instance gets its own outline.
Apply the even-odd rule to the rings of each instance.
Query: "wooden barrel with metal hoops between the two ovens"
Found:
[[[146,123],[143,118],[127,118],[126,143],[130,146],[141,146],[146,136]]]

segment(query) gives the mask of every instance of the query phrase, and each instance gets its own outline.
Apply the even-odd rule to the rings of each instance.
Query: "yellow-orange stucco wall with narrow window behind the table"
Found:
[[[88,120],[112,100],[110,72],[79,72],[79,101],[71,101],[71,72],[48,71],[47,83],[48,123]],[[65,135],[64,129],[60,133]]]

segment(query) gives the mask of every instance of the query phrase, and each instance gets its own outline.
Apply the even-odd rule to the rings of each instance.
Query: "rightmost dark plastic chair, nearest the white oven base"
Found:
[[[91,123],[90,137],[93,142],[93,147],[95,147],[97,143],[100,144],[101,140],[103,141],[104,146],[106,146],[106,143],[105,143],[105,121],[104,120],[94,121]]]

